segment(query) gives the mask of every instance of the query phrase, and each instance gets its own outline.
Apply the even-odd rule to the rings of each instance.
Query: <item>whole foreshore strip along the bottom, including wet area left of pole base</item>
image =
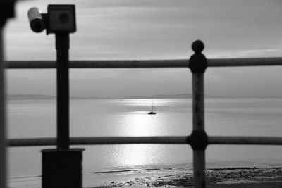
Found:
[[[143,168],[88,172],[83,188],[192,187],[192,168]],[[207,168],[208,188],[282,187],[282,165]],[[41,187],[41,177],[11,177],[8,187]]]

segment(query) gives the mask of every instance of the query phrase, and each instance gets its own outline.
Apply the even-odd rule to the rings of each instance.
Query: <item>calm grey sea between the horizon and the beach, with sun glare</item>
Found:
[[[152,102],[156,115],[147,114]],[[208,135],[282,134],[282,98],[207,98],[204,106]],[[8,100],[7,111],[8,138],[56,137],[55,100]],[[188,136],[192,99],[71,99],[70,128],[71,137]],[[41,150],[54,147],[8,148],[9,187],[40,187]],[[71,147],[85,149],[84,187],[110,181],[109,172],[192,168],[192,149],[185,144]],[[282,164],[281,146],[210,145],[206,151],[207,168]]]

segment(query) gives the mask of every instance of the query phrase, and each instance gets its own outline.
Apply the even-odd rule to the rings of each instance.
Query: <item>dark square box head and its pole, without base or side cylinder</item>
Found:
[[[49,5],[47,34],[56,35],[57,51],[57,148],[68,149],[70,140],[68,50],[76,31],[74,5]],[[43,16],[44,17],[44,16]]]

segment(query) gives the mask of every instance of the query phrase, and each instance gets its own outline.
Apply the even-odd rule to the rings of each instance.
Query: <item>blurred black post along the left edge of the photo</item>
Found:
[[[3,30],[8,18],[14,16],[15,1],[0,1],[0,187],[6,188],[6,111]]]

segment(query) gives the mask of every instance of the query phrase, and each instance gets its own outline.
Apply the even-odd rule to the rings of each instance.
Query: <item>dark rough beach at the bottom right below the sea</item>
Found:
[[[94,187],[192,187],[191,168],[135,169],[98,174],[113,179]],[[120,177],[119,180],[116,177]],[[282,187],[282,166],[208,168],[206,177],[210,188]]]

